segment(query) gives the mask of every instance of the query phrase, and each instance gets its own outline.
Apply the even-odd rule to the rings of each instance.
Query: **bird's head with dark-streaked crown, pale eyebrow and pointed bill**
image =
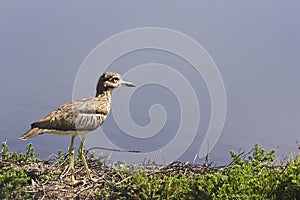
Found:
[[[123,81],[122,76],[118,73],[104,72],[99,78],[96,95],[99,95],[103,91],[112,91],[121,86],[135,87],[133,83]]]

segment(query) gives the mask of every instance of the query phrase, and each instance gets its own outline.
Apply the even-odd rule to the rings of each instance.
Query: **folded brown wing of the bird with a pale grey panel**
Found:
[[[85,98],[62,105],[31,126],[62,131],[92,131],[104,122],[107,113],[101,110],[95,98]]]

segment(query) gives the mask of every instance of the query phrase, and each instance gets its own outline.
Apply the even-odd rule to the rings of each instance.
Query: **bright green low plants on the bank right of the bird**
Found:
[[[205,175],[135,170],[112,183],[113,190],[96,194],[106,199],[300,199],[299,154],[286,166],[276,166],[275,150],[266,152],[258,144],[247,158],[231,156],[231,164]]]

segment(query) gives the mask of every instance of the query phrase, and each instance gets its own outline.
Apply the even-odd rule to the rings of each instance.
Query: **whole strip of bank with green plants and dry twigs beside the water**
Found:
[[[98,180],[85,180],[77,159],[76,176],[86,182],[70,185],[67,155],[60,152],[54,161],[43,161],[35,158],[32,145],[21,154],[10,152],[3,143],[0,199],[300,199],[299,153],[279,161],[275,150],[265,152],[256,144],[251,152],[231,152],[231,157],[232,162],[223,167],[207,162],[131,166],[107,165],[108,161],[92,155],[88,163]]]

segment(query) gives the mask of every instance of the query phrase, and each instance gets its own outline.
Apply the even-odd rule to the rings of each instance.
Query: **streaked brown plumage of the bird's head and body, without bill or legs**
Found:
[[[112,77],[121,75],[114,72],[105,72],[99,78],[96,97],[84,98],[68,102],[49,115],[31,124],[31,129],[20,139],[28,139],[43,133],[59,135],[77,135],[91,132],[101,126],[109,113],[111,91],[114,84]]]

